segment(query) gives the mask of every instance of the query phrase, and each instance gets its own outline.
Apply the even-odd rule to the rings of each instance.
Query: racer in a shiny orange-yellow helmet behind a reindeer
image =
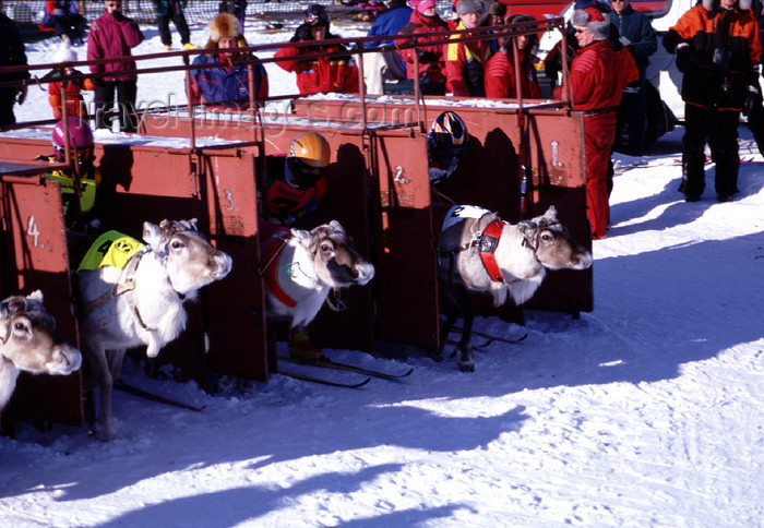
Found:
[[[288,154],[267,156],[267,214],[284,226],[315,209],[326,192],[332,151],[318,132],[295,136]]]

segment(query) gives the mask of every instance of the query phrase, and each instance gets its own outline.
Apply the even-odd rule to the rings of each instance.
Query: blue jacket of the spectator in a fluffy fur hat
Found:
[[[216,62],[218,62],[217,55],[200,55],[193,60],[193,64],[213,64]],[[205,103],[249,101],[247,64],[234,63],[228,70],[223,68],[223,65],[194,70],[192,75],[194,93],[201,95]],[[255,97],[262,95],[261,89],[265,88],[265,86],[267,86],[267,74],[262,64],[256,64],[254,67]]]

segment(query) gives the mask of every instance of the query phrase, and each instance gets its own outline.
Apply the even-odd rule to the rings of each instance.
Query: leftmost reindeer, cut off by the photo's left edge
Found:
[[[43,292],[0,302],[0,410],[11,399],[21,371],[69,375],[82,364],[45,311]]]

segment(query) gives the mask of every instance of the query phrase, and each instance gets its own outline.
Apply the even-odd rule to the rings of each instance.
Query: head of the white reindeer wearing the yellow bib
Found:
[[[224,278],[231,257],[215,249],[196,230],[196,219],[143,224],[143,240],[163,259],[172,288],[181,295]]]

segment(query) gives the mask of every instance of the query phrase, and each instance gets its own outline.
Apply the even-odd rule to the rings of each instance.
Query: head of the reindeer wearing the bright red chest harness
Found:
[[[557,218],[550,205],[547,212],[530,220],[521,221],[525,244],[533,249],[538,262],[548,269],[585,269],[592,265],[592,253],[573,240]]]

